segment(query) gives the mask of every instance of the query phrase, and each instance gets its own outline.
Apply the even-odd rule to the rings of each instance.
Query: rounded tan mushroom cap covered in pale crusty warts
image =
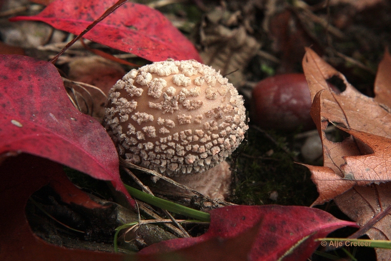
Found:
[[[168,176],[216,166],[248,129],[236,88],[195,60],[128,72],[109,92],[104,121],[120,156]]]

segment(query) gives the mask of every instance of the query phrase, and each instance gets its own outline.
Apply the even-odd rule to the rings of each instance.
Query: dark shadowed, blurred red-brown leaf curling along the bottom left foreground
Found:
[[[30,230],[24,211],[26,202],[35,190],[38,190],[49,181],[64,183],[64,171],[62,165],[48,161],[36,156],[22,154],[18,157],[8,157],[1,165],[3,175],[0,183],[0,260],[15,261],[49,261],[49,260],[83,260],[83,261],[104,261],[104,260],[124,260],[123,255],[87,251],[80,249],[67,249],[56,245],[48,244],[41,238],[36,237]],[[17,177],[17,178],[15,178]],[[66,177],[65,177],[66,179]],[[67,181],[70,186],[72,184]],[[70,188],[67,186],[67,189]],[[10,189],[12,188],[12,189]],[[75,187],[74,187],[75,188]],[[75,188],[76,189],[76,188]],[[76,189],[77,190],[77,189]],[[72,190],[72,193],[76,191]],[[81,190],[79,190],[79,196]],[[84,195],[87,196],[87,195]],[[64,200],[64,197],[62,197]],[[95,203],[96,204],[96,203]],[[261,222],[259,222],[259,225]],[[255,225],[257,227],[257,224]],[[239,236],[224,241],[224,246],[229,246],[235,250],[230,259],[226,261],[240,261],[247,256],[251,245],[247,245],[249,240],[254,240],[257,230],[247,230]],[[225,249],[221,247],[221,240],[217,237],[210,238],[196,245],[194,249],[179,250],[175,257],[182,255],[183,260],[192,260],[204,256],[203,260],[221,260],[221,254]],[[165,255],[156,253],[152,255],[142,255],[137,257],[137,261],[153,261],[163,258]],[[216,257],[217,259],[214,259]],[[135,260],[135,256],[128,255],[126,260]],[[176,259],[178,260],[178,259]]]

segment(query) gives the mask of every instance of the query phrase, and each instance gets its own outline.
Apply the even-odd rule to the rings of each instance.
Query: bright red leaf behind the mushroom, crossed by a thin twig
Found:
[[[37,16],[14,17],[10,21],[42,21],[78,35],[115,2],[56,0]],[[154,62],[168,58],[201,61],[193,44],[163,14],[142,4],[127,2],[84,37]]]

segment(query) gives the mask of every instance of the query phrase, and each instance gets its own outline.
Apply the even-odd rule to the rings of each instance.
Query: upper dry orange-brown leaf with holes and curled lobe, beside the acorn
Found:
[[[314,204],[322,204],[355,185],[390,180],[388,173],[391,173],[391,168],[385,163],[387,160],[384,157],[387,155],[384,153],[387,152],[384,149],[388,148],[391,138],[391,114],[373,98],[359,93],[344,75],[311,49],[307,49],[304,56],[303,68],[313,99],[311,116],[322,138],[324,150],[324,166],[308,166],[319,192]],[[326,80],[332,76],[343,80],[346,86],[344,92],[337,94],[328,87]],[[329,141],[324,132],[328,122],[342,123],[352,136],[343,142]],[[381,147],[379,142],[382,143]],[[366,164],[369,162],[373,166],[385,165],[385,169],[381,173],[379,169],[367,170]],[[361,163],[357,166],[360,173],[357,168],[352,169],[357,163]]]

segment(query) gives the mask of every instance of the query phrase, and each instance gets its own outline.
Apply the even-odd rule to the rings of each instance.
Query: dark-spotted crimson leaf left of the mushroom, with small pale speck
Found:
[[[109,135],[69,101],[57,69],[20,55],[0,55],[0,154],[26,152],[122,184]]]

